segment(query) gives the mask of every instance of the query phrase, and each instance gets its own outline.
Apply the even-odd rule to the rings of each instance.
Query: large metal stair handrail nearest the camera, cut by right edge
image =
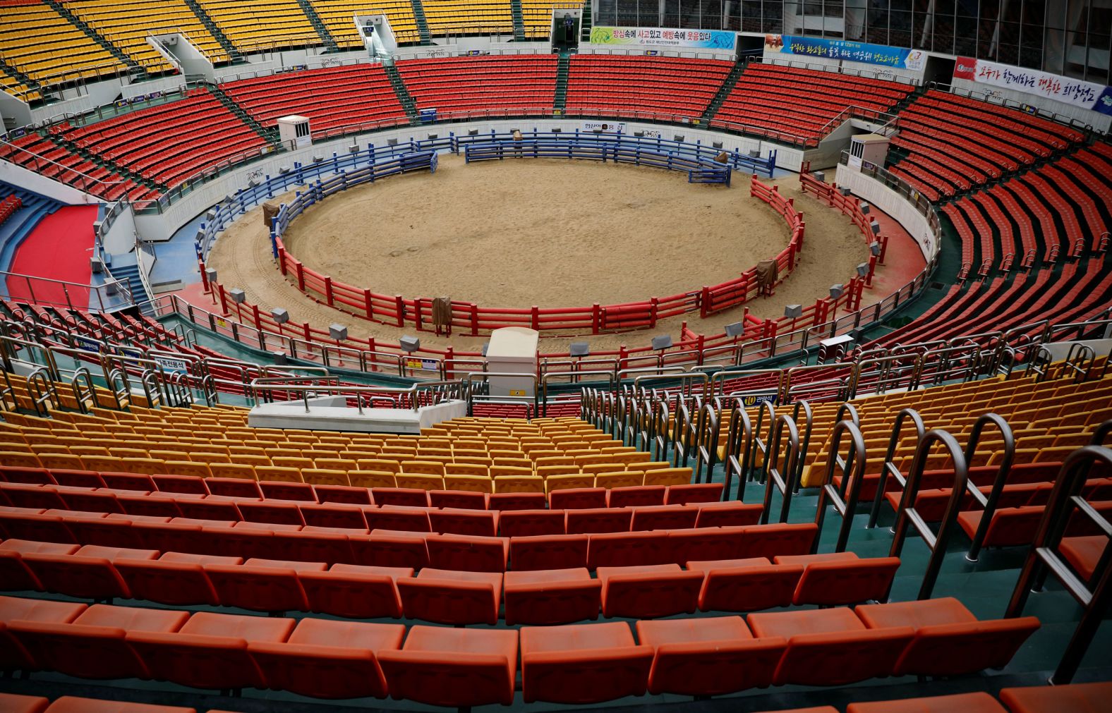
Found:
[[[1101,430],[1112,429],[1112,424],[1105,422]],[[1103,464],[1105,469],[1112,468],[1112,449],[1101,445],[1088,445],[1071,453],[1054,478],[1050,502],[1043,511],[1034,543],[1027,551],[1020,578],[1007,603],[1006,618],[1015,618],[1023,614],[1031,592],[1042,588],[1042,582],[1052,575],[1084,608],[1078,627],[1066,644],[1062,660],[1050,677],[1052,685],[1070,683],[1089,645],[1100,627],[1101,621],[1108,616],[1112,605],[1112,524],[1085,502],[1081,488],[1090,471],[1096,464]],[[1068,526],[1075,517],[1088,519],[1096,529],[1098,537],[1110,542],[1101,547],[1102,554],[1096,561],[1094,571],[1088,580],[1082,578],[1061,553],[1060,547],[1066,537]]]

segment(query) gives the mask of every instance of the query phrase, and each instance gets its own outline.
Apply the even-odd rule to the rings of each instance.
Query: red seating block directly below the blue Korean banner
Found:
[[[712,127],[746,133],[782,135],[788,142],[817,143],[850,107],[890,111],[914,88],[894,81],[800,67],[752,62],[742,72]]]

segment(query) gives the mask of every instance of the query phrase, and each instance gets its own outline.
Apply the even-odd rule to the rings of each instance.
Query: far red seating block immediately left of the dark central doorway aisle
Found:
[[[403,60],[397,67],[417,108],[438,115],[547,113],[556,93],[553,55]]]

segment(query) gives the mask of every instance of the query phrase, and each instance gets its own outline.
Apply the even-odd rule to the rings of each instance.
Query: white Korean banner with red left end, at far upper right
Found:
[[[972,57],[954,62],[954,79],[1022,91],[1083,109],[1112,115],[1112,87],[1082,81],[1037,69],[1024,69]]]

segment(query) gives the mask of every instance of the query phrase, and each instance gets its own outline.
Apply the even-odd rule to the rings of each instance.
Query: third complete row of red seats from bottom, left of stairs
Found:
[[[683,564],[811,552],[814,523],[577,535],[485,537],[416,531],[403,507],[383,508],[384,527],[369,531],[37,508],[0,509],[8,538],[186,554],[277,558],[326,564],[401,566],[466,572]],[[427,518],[426,513],[419,515]],[[391,517],[399,526],[389,524]],[[411,519],[411,518],[410,518]],[[408,528],[406,526],[409,526]]]

